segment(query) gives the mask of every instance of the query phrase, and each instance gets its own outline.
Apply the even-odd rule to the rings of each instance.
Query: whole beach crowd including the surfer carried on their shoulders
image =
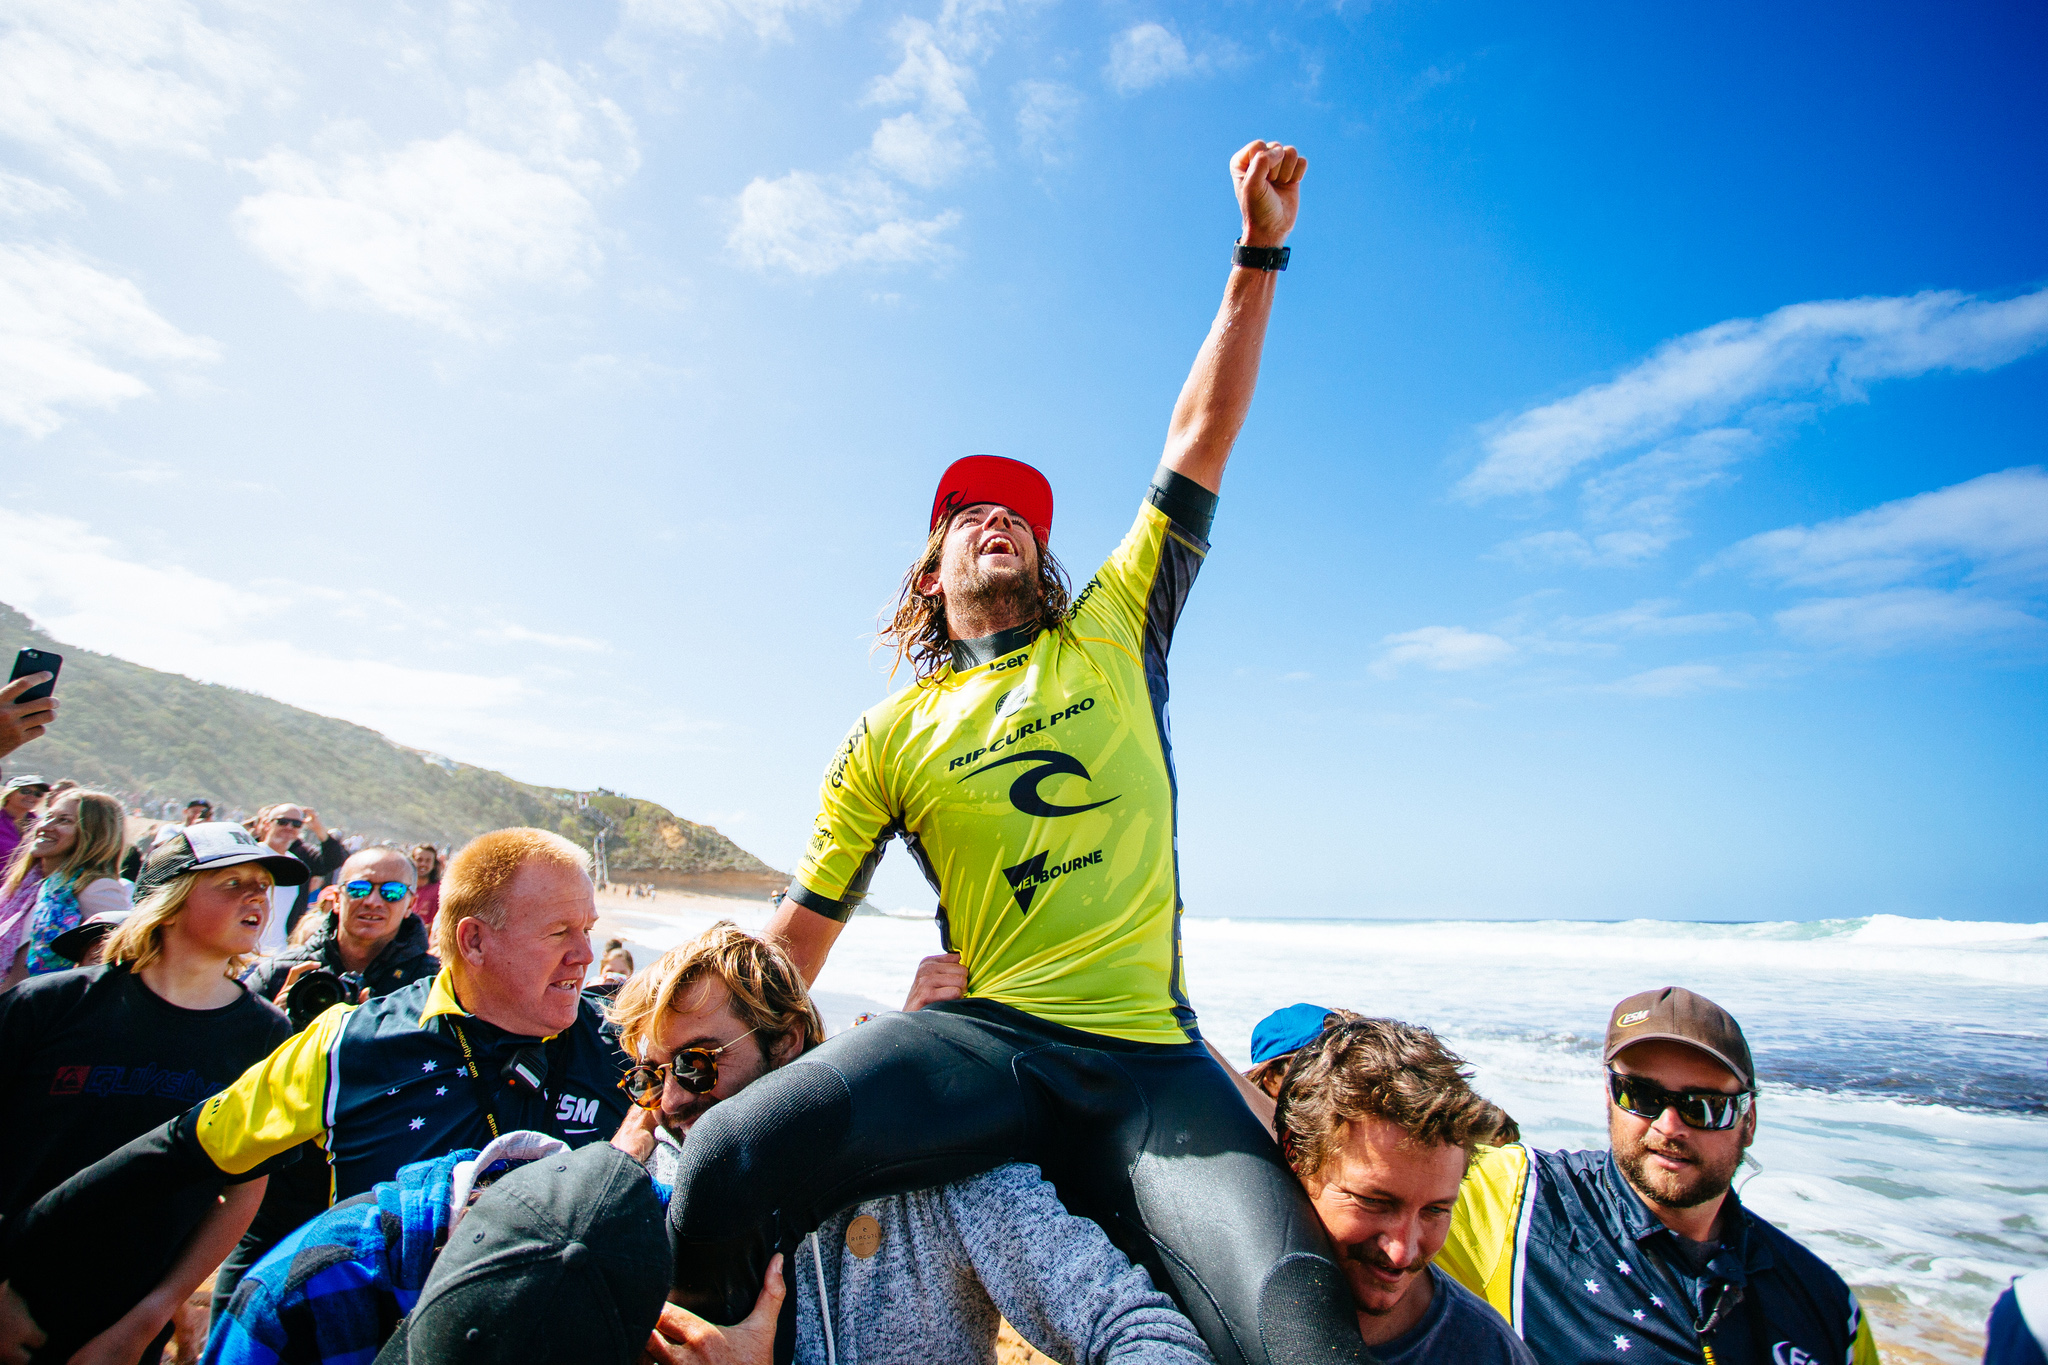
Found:
[[[944,471],[885,632],[913,679],[760,933],[598,952],[592,855],[541,829],[442,864],[195,802],[123,849],[119,800],[10,786],[0,1365],[158,1359],[209,1277],[233,1365],[987,1363],[1001,1320],[1087,1363],[1874,1365],[1735,1191],[1761,1083],[1688,988],[1602,1021],[1593,1150],[1528,1146],[1417,1023],[1286,1005],[1247,1074],[1200,1033],[1167,653],[1305,170],[1231,158],[1223,305],[1079,591],[1044,475]],[[55,720],[29,681],[0,757]],[[893,839],[942,952],[827,1038],[811,986]],[[2044,1295],[2001,1300],[2001,1365],[2044,1365]]]

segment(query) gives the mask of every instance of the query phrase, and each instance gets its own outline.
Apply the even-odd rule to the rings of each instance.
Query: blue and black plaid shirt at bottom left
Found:
[[[455,1166],[475,1154],[399,1166],[272,1246],[215,1320],[205,1365],[371,1365],[434,1269]]]

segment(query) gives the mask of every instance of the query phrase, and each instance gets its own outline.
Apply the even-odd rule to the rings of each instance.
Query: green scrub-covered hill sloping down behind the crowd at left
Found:
[[[10,774],[72,778],[131,802],[207,796],[223,814],[293,800],[315,806],[330,827],[373,841],[449,845],[485,829],[535,825],[590,847],[608,829],[614,880],[776,876],[713,827],[651,800],[600,790],[580,810],[567,788],[514,782],[393,745],[360,724],[74,649],[0,604],[0,657],[10,665],[27,645],[63,655],[63,710],[43,739],[8,759]]]

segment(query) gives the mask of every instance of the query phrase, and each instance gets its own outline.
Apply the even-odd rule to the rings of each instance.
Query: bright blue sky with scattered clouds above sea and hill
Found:
[[[61,639],[788,866],[938,471],[1044,467],[1085,577],[1282,137],[1190,911],[2048,919],[2040,10],[0,25],[0,600]]]

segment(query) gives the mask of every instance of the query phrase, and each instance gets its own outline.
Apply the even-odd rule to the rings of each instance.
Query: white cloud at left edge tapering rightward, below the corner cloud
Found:
[[[31,436],[63,426],[66,407],[113,407],[150,393],[129,362],[219,358],[180,332],[133,280],[57,246],[0,244],[0,422]]]

